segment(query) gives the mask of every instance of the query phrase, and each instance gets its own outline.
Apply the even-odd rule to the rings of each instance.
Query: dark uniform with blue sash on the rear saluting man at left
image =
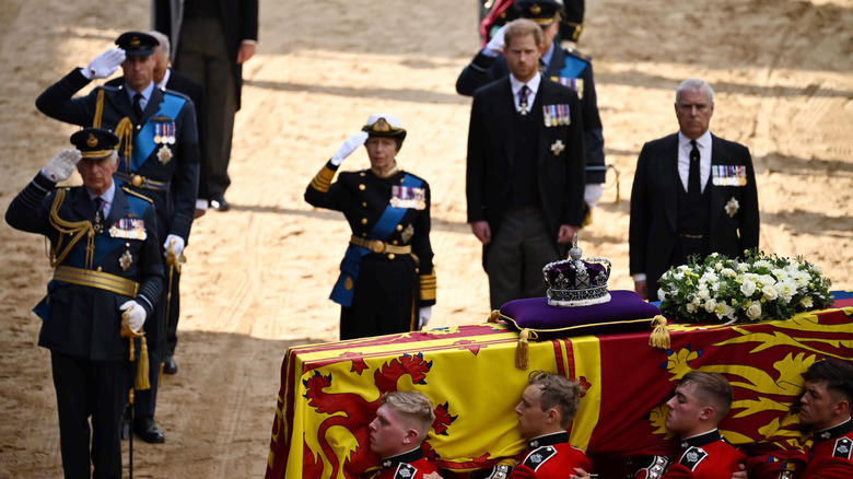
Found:
[[[117,44],[121,44],[121,38]],[[138,118],[124,86],[98,86],[86,96],[72,97],[89,83],[80,69],[74,69],[45,90],[36,100],[36,107],[61,121],[84,127],[97,125],[115,131],[121,139],[121,148],[114,179],[153,200],[162,238],[174,234],[188,244],[199,182],[198,130],[192,103],[179,93],[153,87]],[[128,142],[132,144],[130,157],[127,157]],[[163,255],[161,260],[165,269]],[[167,289],[163,288],[153,317],[145,322],[151,389],[137,395],[138,420],[154,417],[165,342]]]

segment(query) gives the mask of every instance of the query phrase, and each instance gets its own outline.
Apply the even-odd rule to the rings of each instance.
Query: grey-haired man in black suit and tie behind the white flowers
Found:
[[[758,247],[752,157],[746,147],[711,135],[711,85],[685,80],[675,110],[680,131],[643,145],[631,190],[631,274],[651,301],[661,276],[689,256],[738,257]]]

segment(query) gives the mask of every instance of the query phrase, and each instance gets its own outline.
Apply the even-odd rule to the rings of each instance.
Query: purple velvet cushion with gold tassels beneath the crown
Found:
[[[648,329],[661,309],[633,291],[610,291],[610,301],[591,306],[549,306],[547,297],[515,300],[501,306],[501,319],[541,337],[583,336]]]

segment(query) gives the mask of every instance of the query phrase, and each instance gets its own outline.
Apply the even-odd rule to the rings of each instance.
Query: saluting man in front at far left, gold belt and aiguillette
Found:
[[[38,346],[50,350],[65,477],[87,478],[94,465],[94,477],[118,479],[129,355],[122,312],[131,329],[142,328],[163,262],[151,200],[113,182],[118,138],[86,128],[71,142],[77,149],[50,160],[12,200],[5,221],[51,244],[54,279],[34,311],[44,320]],[[57,189],[74,167],[83,186]]]

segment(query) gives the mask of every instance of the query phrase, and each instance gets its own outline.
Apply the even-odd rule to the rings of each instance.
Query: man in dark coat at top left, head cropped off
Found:
[[[210,206],[227,211],[225,189],[243,63],[255,55],[258,0],[152,0],[153,28],[172,39],[175,69],[205,85]]]

